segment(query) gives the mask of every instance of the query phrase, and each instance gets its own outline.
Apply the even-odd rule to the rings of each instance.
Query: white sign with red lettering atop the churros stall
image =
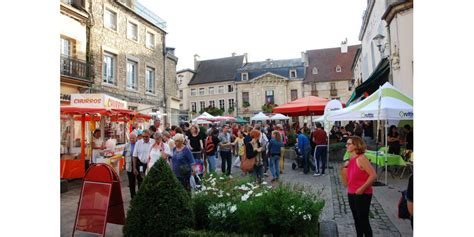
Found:
[[[127,102],[106,94],[72,94],[71,105],[78,107],[127,109]]]

